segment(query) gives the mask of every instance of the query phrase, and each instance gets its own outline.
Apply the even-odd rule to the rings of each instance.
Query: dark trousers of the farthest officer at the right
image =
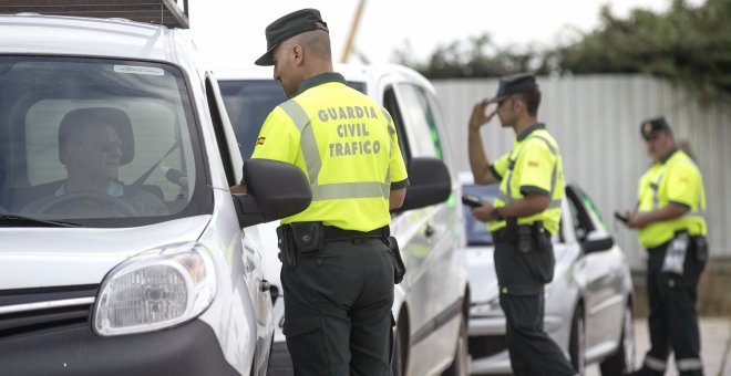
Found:
[[[698,280],[706,267],[707,250],[699,250],[697,239],[691,238],[682,274],[668,273],[662,271],[662,264],[670,243],[671,241],[648,250],[650,351],[640,370],[647,375],[663,375],[672,349],[680,375],[699,376],[703,375],[703,367],[696,302]]]

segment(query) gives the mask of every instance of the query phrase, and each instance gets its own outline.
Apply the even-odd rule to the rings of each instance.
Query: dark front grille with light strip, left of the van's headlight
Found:
[[[99,285],[0,290],[0,338],[86,324]]]

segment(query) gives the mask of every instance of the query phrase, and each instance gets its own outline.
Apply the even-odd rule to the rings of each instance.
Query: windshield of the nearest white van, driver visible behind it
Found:
[[[172,65],[0,56],[1,224],[199,215],[212,200],[197,194],[206,184],[191,107]]]

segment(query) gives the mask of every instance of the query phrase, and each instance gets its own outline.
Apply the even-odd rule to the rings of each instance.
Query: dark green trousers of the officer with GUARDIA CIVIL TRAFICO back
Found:
[[[296,376],[391,374],[388,252],[377,238],[332,241],[282,268],[284,333]]]

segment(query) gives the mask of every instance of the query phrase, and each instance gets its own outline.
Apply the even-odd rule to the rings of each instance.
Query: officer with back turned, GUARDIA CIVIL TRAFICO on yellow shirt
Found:
[[[302,9],[266,29],[289,101],[265,121],[251,158],[299,166],[312,203],[277,229],[287,347],[295,375],[389,375],[393,318],[390,209],[409,185],[388,112],[333,72],[320,12]],[[391,238],[392,239],[392,238]]]

